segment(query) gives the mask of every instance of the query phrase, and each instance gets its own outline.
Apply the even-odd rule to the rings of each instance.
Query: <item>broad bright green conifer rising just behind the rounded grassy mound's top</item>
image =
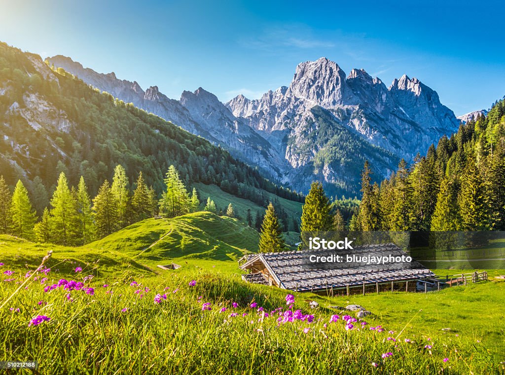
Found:
[[[173,165],[168,168],[164,182],[167,190],[160,200],[160,214],[164,217],[175,217],[188,213],[189,194]]]

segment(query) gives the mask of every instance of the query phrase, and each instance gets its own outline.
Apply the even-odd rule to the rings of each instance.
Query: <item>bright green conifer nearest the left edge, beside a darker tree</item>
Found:
[[[28,198],[28,191],[21,180],[18,180],[14,189],[10,211],[12,217],[10,232],[17,237],[27,240],[33,239],[36,214]]]

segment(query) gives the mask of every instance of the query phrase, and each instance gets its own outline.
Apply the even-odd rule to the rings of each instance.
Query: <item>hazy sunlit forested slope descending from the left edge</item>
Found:
[[[0,174],[7,183],[21,179],[36,197],[50,194],[63,171],[75,186],[82,175],[94,196],[118,164],[130,183],[142,171],[158,195],[174,165],[186,186],[217,184],[262,205],[268,202],[258,189],[303,198],[208,140],[53,70],[38,55],[0,43]]]

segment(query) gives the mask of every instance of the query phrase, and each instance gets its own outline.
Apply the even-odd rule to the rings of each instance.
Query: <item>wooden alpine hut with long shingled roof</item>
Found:
[[[310,255],[356,256],[407,255],[394,244],[355,246],[354,250],[302,250],[280,253],[247,254],[239,267],[249,273],[248,283],[276,286],[297,292],[356,294],[379,290],[416,291],[418,282],[433,279],[435,274],[419,262],[386,263],[310,263]],[[345,259],[345,258],[344,258]]]

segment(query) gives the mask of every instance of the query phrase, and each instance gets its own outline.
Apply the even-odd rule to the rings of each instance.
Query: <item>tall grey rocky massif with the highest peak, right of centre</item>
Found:
[[[374,160],[377,177],[386,176],[400,158],[412,160],[459,125],[437,93],[418,79],[404,75],[387,88],[364,70],[353,69],[345,77],[336,63],[325,58],[299,64],[289,87],[269,91],[259,100],[237,96],[226,105],[285,149],[294,168],[291,180],[303,181],[300,177],[312,172],[344,192],[358,190],[365,159]],[[327,136],[318,134],[314,140],[313,134],[321,132],[314,119],[316,108],[333,126],[326,129]],[[352,145],[334,147],[348,139]],[[320,152],[326,155],[324,162]],[[306,190],[307,183],[300,183],[295,187]]]

